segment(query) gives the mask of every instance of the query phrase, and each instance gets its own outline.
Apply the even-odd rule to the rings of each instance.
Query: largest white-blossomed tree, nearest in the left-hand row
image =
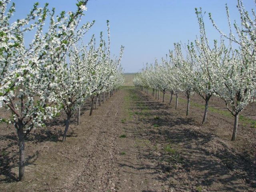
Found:
[[[14,4],[7,10],[10,0],[0,0],[0,103],[12,112],[10,118],[2,118],[14,124],[19,138],[20,168],[19,180],[24,180],[25,147],[24,138],[42,121],[52,118],[59,111],[52,90],[56,83],[56,66],[65,59],[68,47],[83,34],[88,24],[78,28],[82,12],[88,0],[80,0],[77,10],[61,12],[49,11],[38,3],[24,19],[10,23],[15,11]],[[44,34],[46,16],[50,15],[50,26]],[[26,47],[24,32],[36,30],[34,40]],[[14,93],[18,93],[15,100]]]

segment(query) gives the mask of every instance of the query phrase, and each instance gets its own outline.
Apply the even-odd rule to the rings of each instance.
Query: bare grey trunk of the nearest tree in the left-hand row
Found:
[[[20,166],[19,166],[19,181],[25,179],[25,140],[23,133],[23,123],[21,120],[18,122],[18,137],[19,137],[19,154],[20,154]]]

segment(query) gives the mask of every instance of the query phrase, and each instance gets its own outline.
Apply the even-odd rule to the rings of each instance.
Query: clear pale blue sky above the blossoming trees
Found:
[[[16,4],[14,19],[21,19],[29,12],[34,2],[62,10],[75,11],[76,0],[11,0]],[[124,72],[138,72],[143,64],[154,63],[173,49],[174,42],[194,41],[199,34],[195,9],[206,11],[205,23],[210,40],[219,39],[220,34],[208,19],[212,13],[218,27],[228,33],[225,4],[228,4],[231,21],[239,21],[236,0],[90,0],[82,23],[95,20],[95,24],[85,39],[92,34],[99,38],[103,31],[107,37],[106,20],[110,21],[111,53],[119,55],[123,45],[122,67]],[[244,0],[246,10],[255,10],[254,0]],[[28,38],[29,39],[29,38]],[[29,40],[28,40],[29,41]]]

